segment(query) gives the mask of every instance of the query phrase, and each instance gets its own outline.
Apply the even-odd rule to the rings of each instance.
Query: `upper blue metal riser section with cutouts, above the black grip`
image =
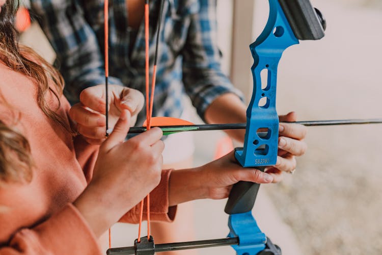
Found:
[[[265,29],[250,45],[254,64],[253,94],[247,109],[247,127],[243,149],[236,150],[235,158],[244,167],[276,164],[279,117],[276,112],[277,67],[284,50],[298,44],[278,0],[269,0],[269,18]],[[267,81],[262,86],[260,73],[267,71]],[[259,129],[267,132],[258,135]]]

